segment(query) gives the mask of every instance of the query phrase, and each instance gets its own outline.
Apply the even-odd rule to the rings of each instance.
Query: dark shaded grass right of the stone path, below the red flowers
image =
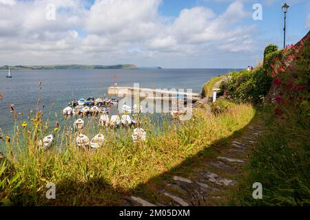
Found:
[[[242,206],[310,205],[310,131],[296,118],[282,120],[265,110],[264,134],[250,155],[238,190],[230,203]],[[262,199],[252,197],[252,185],[262,184]]]

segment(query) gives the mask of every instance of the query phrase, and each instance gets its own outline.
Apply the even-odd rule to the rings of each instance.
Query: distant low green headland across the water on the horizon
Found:
[[[10,66],[12,70],[22,69],[137,69],[136,65],[123,64],[123,65],[40,65],[40,66]],[[0,67],[1,69],[8,69],[8,66]]]

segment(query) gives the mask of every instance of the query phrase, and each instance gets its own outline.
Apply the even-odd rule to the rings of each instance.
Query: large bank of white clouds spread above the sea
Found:
[[[90,8],[82,0],[0,3],[0,65],[139,65],[150,58],[165,63],[172,56],[253,50],[253,27],[242,25],[251,14],[241,1],[230,3],[222,14],[199,6],[175,18],[159,14],[161,0],[96,0]],[[48,3],[56,5],[55,21],[45,19]]]

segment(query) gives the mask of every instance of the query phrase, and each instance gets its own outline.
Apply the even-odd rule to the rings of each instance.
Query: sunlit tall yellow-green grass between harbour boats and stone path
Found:
[[[76,148],[76,134],[67,123],[54,131],[57,151],[38,148],[39,138],[50,132],[40,116],[30,118],[25,128],[17,122],[19,131],[6,143],[9,153],[0,166],[0,199],[19,206],[116,205],[138,184],[231,135],[253,116],[247,104],[232,105],[217,116],[200,109],[185,122],[162,115],[161,126],[144,115],[147,141],[138,143],[130,128],[103,129],[90,120],[84,133],[90,138],[99,131],[105,135],[104,146],[96,150]],[[45,198],[48,182],[56,185],[56,199]]]

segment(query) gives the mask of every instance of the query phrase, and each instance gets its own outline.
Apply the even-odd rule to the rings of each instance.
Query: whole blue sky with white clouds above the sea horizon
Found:
[[[0,0],[0,66],[255,66],[283,47],[285,2],[293,44],[310,30],[309,0]]]

